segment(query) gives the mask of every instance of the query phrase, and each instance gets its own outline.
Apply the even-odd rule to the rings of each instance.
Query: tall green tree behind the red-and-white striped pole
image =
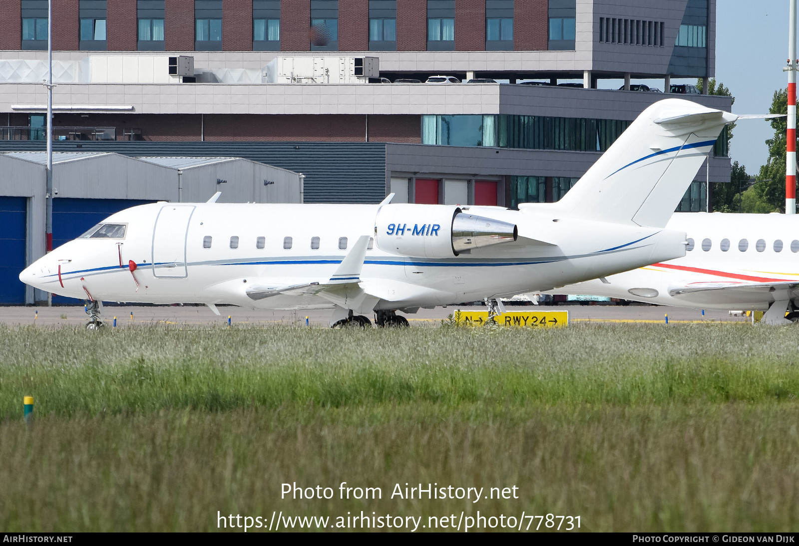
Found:
[[[774,91],[769,113],[788,113],[788,90]],[[754,196],[768,204],[769,212],[785,212],[785,153],[788,121],[786,117],[766,120],[774,129],[774,136],[765,141],[769,146],[769,159],[757,174],[757,184],[752,187]],[[745,202],[745,200],[744,200]]]

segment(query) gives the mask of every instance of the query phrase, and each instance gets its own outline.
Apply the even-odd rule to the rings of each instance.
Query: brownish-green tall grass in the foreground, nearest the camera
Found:
[[[4,531],[205,531],[224,515],[581,516],[584,531],[790,531],[799,404],[162,410],[0,425]],[[380,500],[338,485],[380,487]],[[334,489],[280,498],[281,484]],[[518,499],[392,499],[395,484]],[[487,489],[486,489],[487,491]],[[241,529],[239,529],[241,530]],[[254,530],[254,529],[253,529]],[[384,529],[385,530],[385,529]]]

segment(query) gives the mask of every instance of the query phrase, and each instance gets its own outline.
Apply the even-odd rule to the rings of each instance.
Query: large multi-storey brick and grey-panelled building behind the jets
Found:
[[[46,6],[10,0],[0,21],[2,152],[45,148]],[[671,85],[714,77],[715,13],[715,0],[54,2],[54,150],[242,158],[302,173],[308,203],[555,201],[653,102],[730,109]],[[435,76],[483,82],[414,82]],[[622,89],[597,89],[608,79]],[[626,90],[642,79],[689,93]],[[681,210],[729,181],[725,134]],[[103,210],[163,198],[105,184],[118,187]],[[24,217],[26,243],[0,241],[14,263],[43,251],[40,186],[0,187],[0,210]]]

